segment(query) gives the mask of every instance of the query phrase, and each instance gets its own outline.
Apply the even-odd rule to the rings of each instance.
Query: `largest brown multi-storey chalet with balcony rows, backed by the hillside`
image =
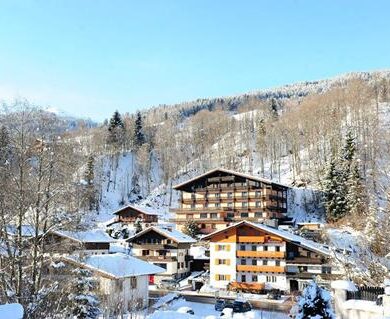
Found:
[[[215,169],[174,187],[181,192],[175,213],[178,229],[195,220],[208,234],[232,223],[284,219],[288,187],[271,181]]]

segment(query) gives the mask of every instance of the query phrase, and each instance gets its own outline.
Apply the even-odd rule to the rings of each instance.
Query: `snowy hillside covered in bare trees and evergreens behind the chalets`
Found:
[[[50,306],[43,296],[58,287],[41,282],[39,252],[50,247],[38,233],[104,227],[126,203],[154,208],[167,221],[177,201],[172,185],[219,166],[292,186],[293,218],[349,226],[375,258],[390,252],[390,72],[114,111],[96,127],[81,120],[69,127],[27,101],[5,105],[0,230],[28,224],[37,236],[28,256],[21,241],[9,252],[15,258],[0,278],[1,299],[30,298],[35,313]],[[31,267],[22,267],[26,260]]]

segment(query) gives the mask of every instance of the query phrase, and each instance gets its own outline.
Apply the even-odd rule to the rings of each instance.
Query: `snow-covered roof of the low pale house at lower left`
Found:
[[[122,253],[91,255],[82,259],[70,256],[64,259],[115,279],[165,272],[161,267]]]

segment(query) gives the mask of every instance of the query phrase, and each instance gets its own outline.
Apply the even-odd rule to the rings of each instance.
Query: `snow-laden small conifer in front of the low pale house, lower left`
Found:
[[[99,300],[93,293],[96,280],[87,269],[75,269],[74,292],[69,295],[70,312],[78,319],[95,319],[100,314]]]

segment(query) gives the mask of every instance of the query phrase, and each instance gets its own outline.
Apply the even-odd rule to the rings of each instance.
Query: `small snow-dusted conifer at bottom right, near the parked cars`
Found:
[[[328,291],[312,281],[298,300],[296,319],[336,319]]]

